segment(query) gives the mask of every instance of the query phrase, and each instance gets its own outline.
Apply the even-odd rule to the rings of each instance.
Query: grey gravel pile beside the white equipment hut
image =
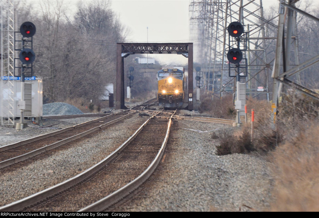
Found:
[[[83,114],[83,112],[77,107],[63,102],[54,102],[43,105],[43,116],[73,114]]]

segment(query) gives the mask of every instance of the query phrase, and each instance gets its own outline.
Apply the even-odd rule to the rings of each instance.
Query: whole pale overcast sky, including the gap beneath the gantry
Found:
[[[319,10],[319,0],[310,1]],[[76,11],[78,0],[63,2],[68,5],[70,12]],[[256,3],[259,4],[259,0]],[[192,42],[197,39],[197,36],[190,38],[189,4],[190,0],[111,0],[113,11],[119,16],[122,24],[130,29],[131,34],[126,40],[135,42]],[[264,10],[271,5],[275,5],[278,10],[279,1],[263,0]],[[188,62],[187,58],[176,54],[149,57],[160,58],[161,62],[167,62],[168,65],[171,64],[169,62]]]

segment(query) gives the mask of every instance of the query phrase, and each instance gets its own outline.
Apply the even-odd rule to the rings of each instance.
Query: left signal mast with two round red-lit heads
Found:
[[[19,101],[19,104],[18,104],[18,107],[21,111],[21,115],[20,115],[20,123],[17,123],[16,125],[17,130],[22,130],[26,126],[26,123],[24,123],[24,110],[26,109],[26,102],[24,100],[24,81],[26,76],[27,77],[33,76],[32,63],[35,60],[35,53],[32,50],[33,48],[32,37],[34,36],[35,32],[36,32],[36,28],[33,23],[29,21],[24,22],[20,26],[20,33],[22,35],[22,39],[17,40],[22,42],[22,48],[15,49],[16,51],[20,51],[19,60],[22,62],[21,67],[15,67],[15,68],[21,69],[20,75],[17,75],[21,77],[21,101]]]

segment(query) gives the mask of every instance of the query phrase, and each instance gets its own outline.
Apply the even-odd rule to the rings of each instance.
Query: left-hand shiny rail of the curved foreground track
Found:
[[[155,116],[155,115],[154,115]],[[84,179],[88,178],[89,176],[93,175],[95,172],[100,170],[102,167],[107,165],[112,159],[117,157],[119,153],[137,136],[137,134],[145,127],[147,123],[154,117],[150,117],[148,120],[145,121],[136,131],[135,133],[130,136],[120,147],[118,147],[115,151],[113,151],[108,157],[101,160],[99,163],[93,165],[92,167],[88,168],[84,172],[67,179],[55,186],[49,187],[44,189],[38,193],[34,193],[28,197],[20,199],[18,201],[12,202],[10,204],[4,205],[0,207],[0,211],[19,211],[25,207],[33,205],[39,201],[45,200],[50,196],[55,195],[56,193],[62,192],[65,189],[70,188],[73,185],[83,181]]]

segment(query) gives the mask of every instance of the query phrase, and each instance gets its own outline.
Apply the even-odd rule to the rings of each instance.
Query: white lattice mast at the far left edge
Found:
[[[1,125],[14,125],[14,5],[0,0]]]

